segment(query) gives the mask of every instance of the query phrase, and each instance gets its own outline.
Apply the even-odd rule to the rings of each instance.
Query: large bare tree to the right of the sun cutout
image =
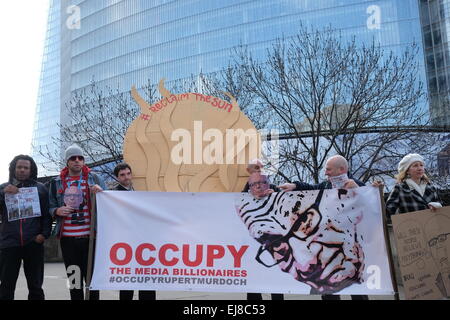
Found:
[[[398,56],[374,42],[345,42],[329,28],[301,27],[263,58],[238,47],[223,76],[207,82],[238,97],[232,88],[240,84],[251,101],[251,120],[259,129],[279,130],[278,180],[317,183],[326,159],[340,154],[366,182],[393,176],[409,146],[429,150],[418,133],[430,124],[423,84],[416,80],[418,50],[412,45]]]

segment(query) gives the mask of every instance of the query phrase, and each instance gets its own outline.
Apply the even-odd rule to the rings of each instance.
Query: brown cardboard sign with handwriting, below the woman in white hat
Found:
[[[450,294],[450,207],[392,216],[406,299]]]

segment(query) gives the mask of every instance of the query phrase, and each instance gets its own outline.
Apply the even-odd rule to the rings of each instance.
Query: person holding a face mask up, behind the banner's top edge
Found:
[[[261,176],[262,169],[263,169],[262,161],[259,159],[254,159],[250,161],[247,165],[247,172],[249,174],[249,181],[246,183],[244,190],[242,192],[248,192],[251,191],[252,194],[257,196],[258,198],[267,196],[271,194],[272,192],[279,192],[280,189],[278,189],[273,184],[268,184],[267,177],[263,176],[263,181],[259,181],[259,177]],[[265,177],[265,178],[264,178]],[[254,180],[252,180],[254,179]],[[255,186],[251,186],[251,184],[257,184]],[[255,194],[255,192],[259,193],[262,187],[262,183],[266,183],[267,187],[264,188],[264,194]],[[252,190],[253,189],[253,190]],[[272,300],[283,300],[284,297],[282,294],[279,293],[272,293]],[[262,294],[261,293],[247,293],[247,300],[262,300]]]

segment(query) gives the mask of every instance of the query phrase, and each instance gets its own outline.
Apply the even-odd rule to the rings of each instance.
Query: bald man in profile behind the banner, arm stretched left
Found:
[[[325,164],[325,175],[327,180],[319,184],[309,184],[305,182],[285,183],[279,188],[284,191],[304,191],[304,190],[323,190],[323,189],[352,189],[363,187],[365,184],[357,179],[354,179],[348,173],[348,162],[340,155],[330,157]],[[379,186],[376,182],[374,186]],[[340,300],[339,295],[322,295],[322,300]],[[352,295],[352,300],[368,300],[367,295]]]

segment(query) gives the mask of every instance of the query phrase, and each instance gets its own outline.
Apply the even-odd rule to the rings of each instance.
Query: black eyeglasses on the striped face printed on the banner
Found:
[[[315,214],[319,215],[319,219],[318,220],[316,219],[315,221],[313,221],[314,223],[311,224],[311,226],[310,226],[310,228],[312,229],[310,234],[314,234],[316,232],[316,230],[319,228],[320,222],[322,221],[322,215],[320,214],[320,211],[319,211],[319,205],[320,205],[320,200],[322,199],[322,195],[323,195],[323,190],[320,190],[314,204],[303,212],[303,214],[308,214],[311,212],[313,215],[315,215]],[[295,206],[293,208],[293,211],[296,211],[296,210],[298,210],[297,206]],[[308,234],[308,235],[306,235],[306,237],[301,238],[295,234],[295,232],[297,232],[299,230],[302,222],[305,222],[305,220],[302,219],[300,216],[297,217],[297,220],[294,222],[291,229],[289,230],[289,232],[286,235],[281,236],[273,241],[268,241],[267,243],[262,244],[258,250],[258,253],[256,254],[256,261],[258,261],[260,264],[262,264],[263,266],[265,266],[267,268],[276,266],[277,264],[280,264],[282,261],[287,262],[289,260],[289,257],[292,255],[292,247],[289,244],[289,239],[294,237],[294,238],[297,238],[300,240],[305,240],[310,235],[310,234]],[[283,244],[287,245],[287,247],[283,246]],[[275,253],[281,255],[282,257],[280,259],[275,259],[275,261],[274,261]]]

